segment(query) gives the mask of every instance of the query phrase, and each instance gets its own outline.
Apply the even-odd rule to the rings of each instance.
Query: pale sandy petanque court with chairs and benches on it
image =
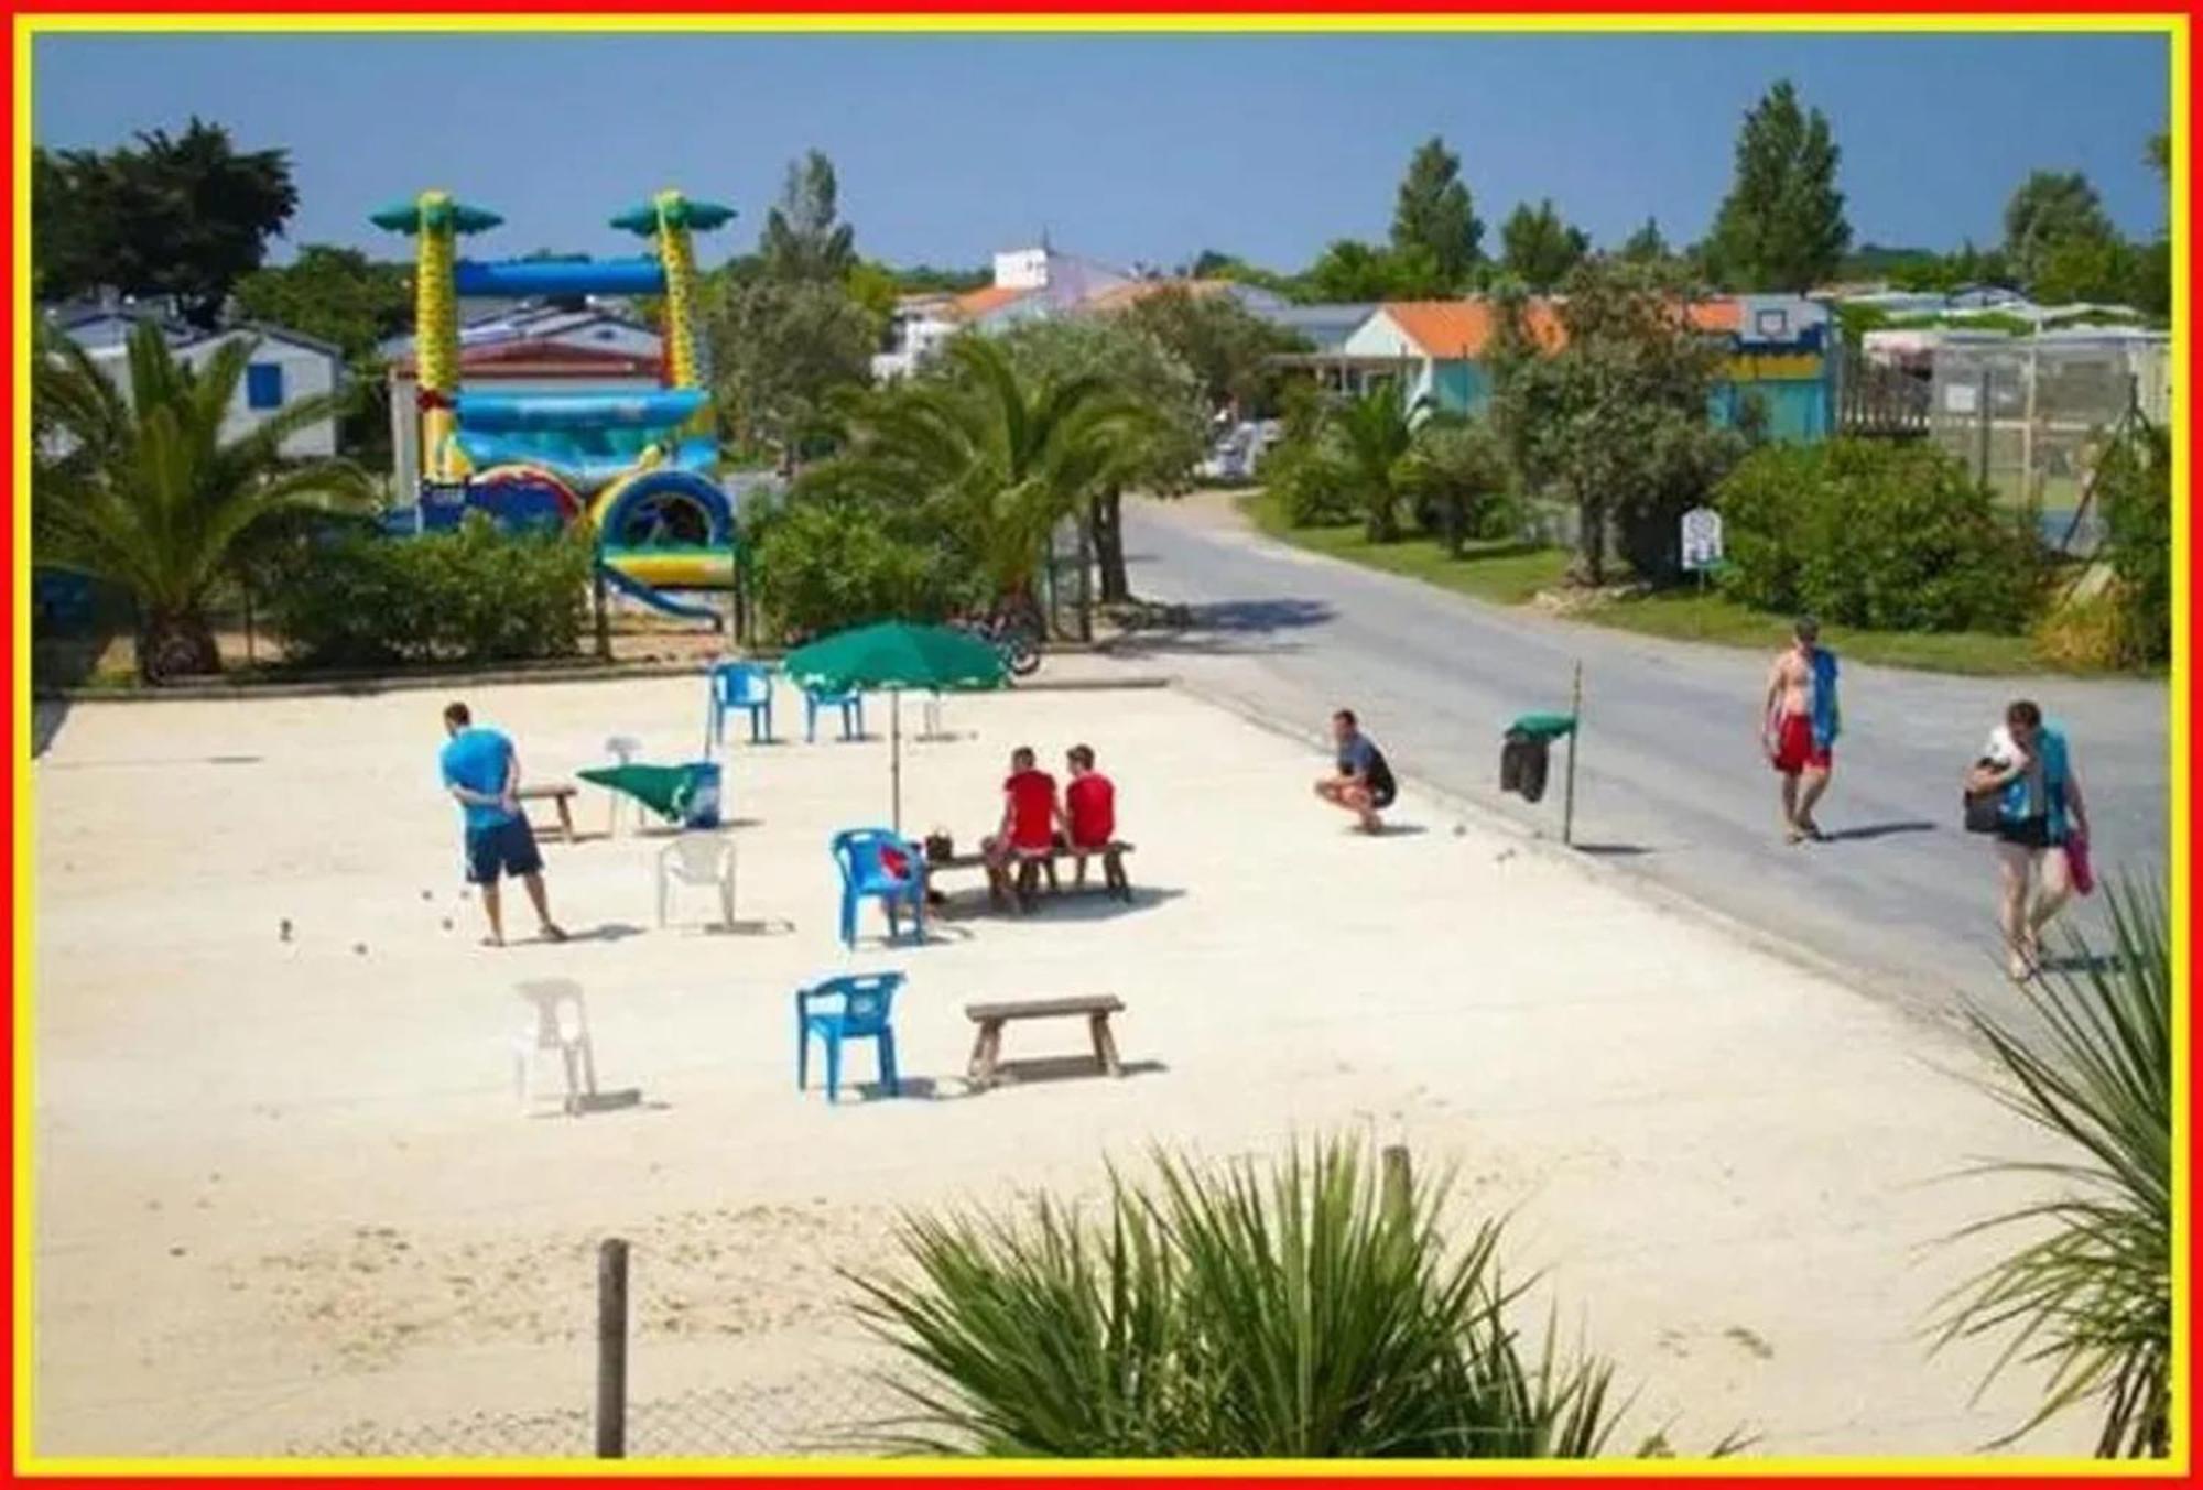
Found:
[[[645,760],[703,736],[696,679],[467,699],[531,780],[604,763],[612,734]],[[1086,741],[1135,901],[1013,919],[967,875],[927,946],[883,948],[868,908],[844,954],[826,842],[886,820],[886,699],[870,741],[804,745],[784,690],[786,743],[727,754],[731,935],[701,890],[659,930],[663,838],[604,838],[584,789],[588,838],[544,835],[575,941],[500,952],[460,897],[443,701],[79,705],[37,760],[35,1453],[571,1433],[606,1234],[634,1241],[637,1402],[716,1393],[731,1422],[668,1444],[793,1450],[861,1406],[837,1270],[892,1265],[897,1208],[1093,1192],[1157,1142],[1324,1133],[1406,1142],[1456,1168],[1463,1219],[1513,1214],[1511,1270],[1544,1270],[1566,1338],[1639,1393],[1624,1446],[1745,1428],[1756,1453],[1969,1453],[2033,1404],[2027,1378],[1972,1402],[1985,1356],[1923,1338],[1980,1256],[1930,1243],[2011,1199],[1950,1175],[2033,1142],[1954,1073],[1974,1058],[1430,796],[1412,760],[1401,831],[1368,840],[1311,798],[1322,756],[1183,692],[952,699],[956,738],[905,743],[905,831],[967,846],[1013,745],[1060,771]],[[518,893],[509,917],[529,932]],[[868,1051],[839,1109],[795,1091],[791,992],[844,968],[910,976],[903,1100],[870,1089]],[[599,1078],[637,1106],[520,1115],[516,985],[544,976],[582,983]],[[1121,1080],[965,1089],[967,1001],[1086,992],[1128,1005]],[[1005,1056],[1082,1043],[1016,1025]],[[2025,1446],[2077,1450],[2080,1426]],[[555,1450],[463,1450],[500,1448]]]

